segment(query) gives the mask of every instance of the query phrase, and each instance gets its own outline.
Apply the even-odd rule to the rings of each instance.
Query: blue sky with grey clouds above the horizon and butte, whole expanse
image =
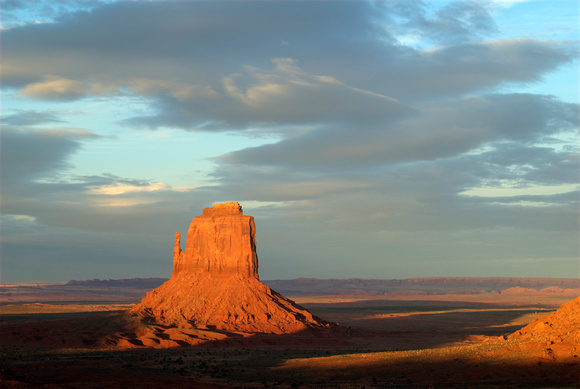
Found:
[[[0,283],[169,277],[228,201],[265,280],[580,276],[578,1],[0,6]]]

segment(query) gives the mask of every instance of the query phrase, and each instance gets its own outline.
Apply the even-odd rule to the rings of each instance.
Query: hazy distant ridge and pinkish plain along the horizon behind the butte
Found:
[[[166,282],[166,278],[124,278],[70,280],[65,283],[28,282],[0,285],[0,305],[46,301],[138,302],[146,292]],[[521,295],[554,297],[580,295],[580,280],[549,277],[417,277],[406,279],[319,279],[262,281],[277,292],[304,296],[397,296],[427,295]],[[490,298],[493,298],[491,296]]]

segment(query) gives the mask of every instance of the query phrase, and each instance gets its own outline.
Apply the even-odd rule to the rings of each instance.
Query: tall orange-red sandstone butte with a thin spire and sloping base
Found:
[[[189,226],[185,252],[176,234],[171,278],[130,312],[164,325],[233,332],[328,326],[259,281],[255,233],[254,218],[237,202],[204,209]]]

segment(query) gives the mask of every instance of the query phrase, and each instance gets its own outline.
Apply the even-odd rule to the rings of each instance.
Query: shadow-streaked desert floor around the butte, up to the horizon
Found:
[[[292,335],[206,329],[207,341],[171,348],[90,341],[124,328],[124,312],[150,288],[146,280],[4,285],[0,387],[580,387],[576,354],[503,338],[573,300],[578,289],[558,279],[503,286],[472,279],[471,289],[441,280],[412,290],[377,280],[265,281],[340,327]],[[172,336],[170,328],[156,331],[160,339]]]

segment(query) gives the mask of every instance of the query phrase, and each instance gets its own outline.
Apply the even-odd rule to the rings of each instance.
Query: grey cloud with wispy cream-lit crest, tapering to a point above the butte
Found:
[[[332,77],[307,74],[292,59],[278,58],[273,63],[273,71],[248,67],[243,73],[223,77],[223,92],[212,94],[211,103],[200,102],[197,96],[179,103],[166,98],[163,107],[167,110],[161,115],[132,118],[129,123],[154,127],[166,118],[169,125],[183,117],[190,124],[180,123],[195,129],[202,124],[202,128],[222,130],[327,122],[358,125],[412,111],[388,96],[353,88]],[[212,121],[215,124],[208,126]]]

